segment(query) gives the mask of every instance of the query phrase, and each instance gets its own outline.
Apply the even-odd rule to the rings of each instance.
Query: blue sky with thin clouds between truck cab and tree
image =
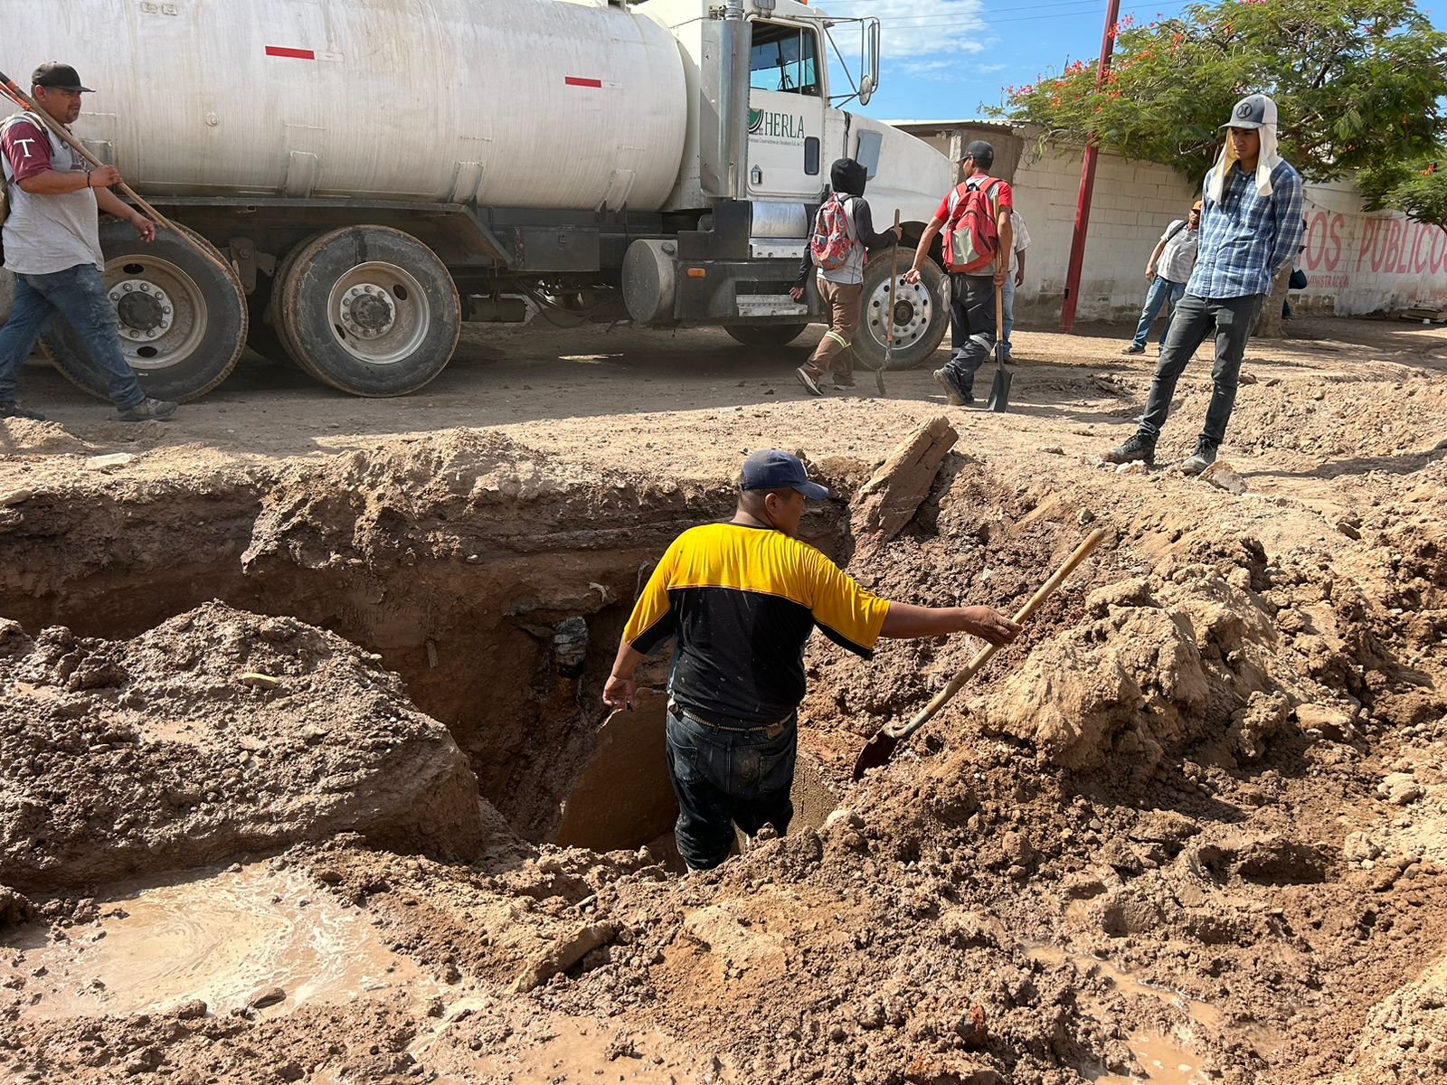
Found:
[[[1104,0],[816,3],[829,14],[880,19],[884,32],[880,91],[862,111],[887,120],[981,116],[981,103],[1001,103],[1003,87],[1033,82],[1036,75],[1059,71],[1068,61],[1095,59],[1106,22]],[[1185,6],[1171,0],[1143,4],[1121,0],[1120,13],[1149,23],[1158,13],[1176,14]],[[1431,12],[1431,19],[1435,26],[1447,27],[1447,9]],[[835,41],[855,68],[857,36],[839,27]]]

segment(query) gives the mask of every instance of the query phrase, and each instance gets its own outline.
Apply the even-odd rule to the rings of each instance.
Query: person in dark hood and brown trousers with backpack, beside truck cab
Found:
[[[838,203],[842,208],[849,244],[848,253],[838,268],[820,266],[818,269],[819,297],[829,305],[829,330],[823,333],[813,356],[796,370],[799,383],[807,389],[809,395],[823,395],[819,382],[831,370],[835,388],[854,388],[852,347],[854,334],[860,328],[860,308],[864,304],[864,253],[867,249],[894,244],[901,233],[897,229],[884,233],[874,231],[870,201],[864,198],[868,172],[852,158],[841,158],[835,162],[829,169],[829,179],[833,182],[833,192],[815,216],[813,233],[825,231],[823,221],[829,217],[831,204]],[[799,282],[789,291],[794,301],[803,301],[805,284],[809,281],[809,272],[813,266],[813,252],[806,247],[803,263],[799,266]]]

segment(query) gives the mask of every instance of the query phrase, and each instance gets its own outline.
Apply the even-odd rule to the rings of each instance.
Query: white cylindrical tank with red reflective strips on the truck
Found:
[[[78,132],[158,195],[657,210],[687,110],[674,38],[563,0],[0,3],[3,49],[96,88]],[[9,35],[7,35],[9,38]],[[16,48],[22,46],[22,48]],[[17,71],[19,69],[19,71]]]

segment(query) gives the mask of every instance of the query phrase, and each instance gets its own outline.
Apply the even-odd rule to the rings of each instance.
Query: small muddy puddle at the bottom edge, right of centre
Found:
[[[1081,972],[1098,975],[1127,998],[1158,1000],[1185,1014],[1187,1023],[1178,1027],[1174,1034],[1162,1036],[1152,1031],[1137,1031],[1126,1037],[1126,1046],[1136,1056],[1136,1062],[1145,1075],[1116,1075],[1084,1068],[1082,1073],[1095,1085],[1134,1085],[1136,1082],[1150,1082],[1152,1085],[1211,1085],[1215,1081],[1201,1069],[1201,1056],[1189,1049],[1189,1042],[1204,1030],[1220,1031],[1221,1011],[1210,1003],[1198,998],[1188,998],[1179,991],[1168,987],[1136,979],[1130,972],[1101,961],[1087,953],[1071,953],[1058,946],[1035,946],[1029,950],[1032,961],[1043,965],[1072,963]],[[1082,998],[1081,1007],[1087,1013],[1098,1013],[1100,1007]]]

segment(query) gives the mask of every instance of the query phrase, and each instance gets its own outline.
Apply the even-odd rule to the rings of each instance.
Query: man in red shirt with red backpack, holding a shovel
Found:
[[[996,256],[1014,250],[1014,231],[1010,226],[1014,194],[1009,184],[988,175],[987,171],[994,165],[994,148],[985,140],[977,139],[965,148],[959,165],[965,179],[939,203],[939,210],[919,239],[915,265],[904,273],[904,281],[919,282],[919,269],[929,256],[929,246],[935,234],[943,230],[952,353],[945,367],[935,370],[935,380],[945,389],[952,405],[967,407],[975,401],[975,370],[994,350],[994,295],[1010,273],[1009,256]]]

